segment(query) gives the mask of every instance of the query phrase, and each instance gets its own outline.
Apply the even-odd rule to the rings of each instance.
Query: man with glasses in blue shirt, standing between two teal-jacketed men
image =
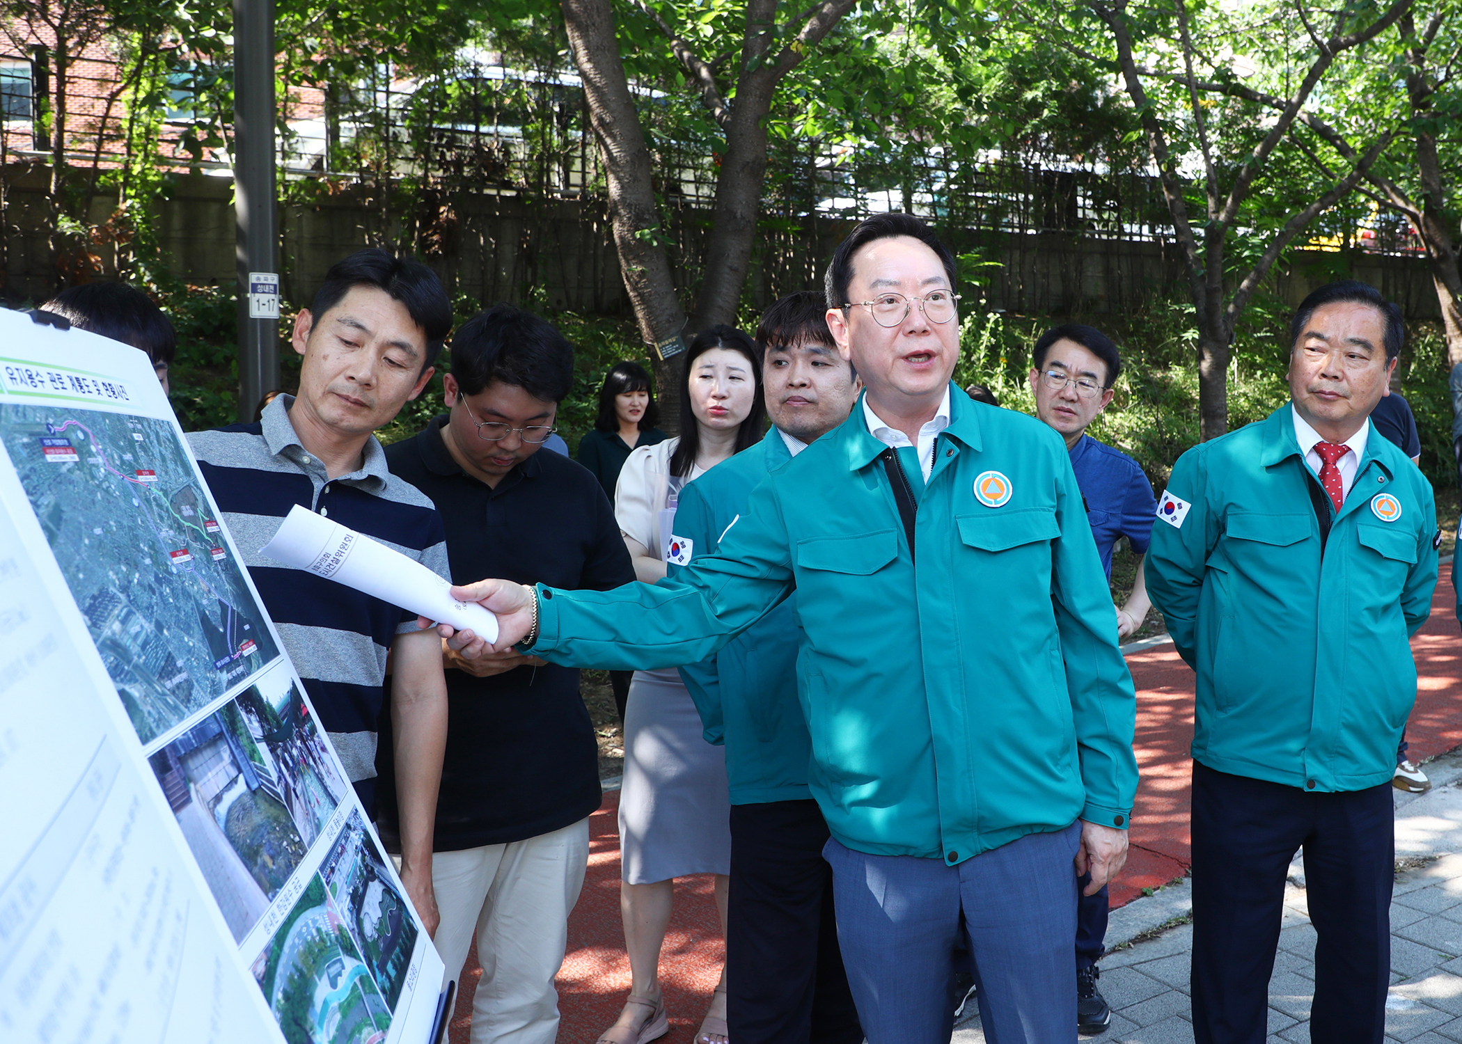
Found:
[[[1035,415],[1066,439],[1096,551],[1111,579],[1111,553],[1117,540],[1126,537],[1133,554],[1143,554],[1158,509],[1152,484],[1137,462],[1086,434],[1091,423],[1111,402],[1121,357],[1117,345],[1101,330],[1066,323],[1041,335],[1031,351],[1031,364]],[[1136,632],[1151,605],[1139,561],[1132,597],[1117,608],[1117,633],[1126,638]],[[1076,1028],[1082,1034],[1099,1034],[1111,1024],[1111,1009],[1096,988],[1096,958],[1102,953],[1107,934],[1107,889],[1086,895],[1085,885],[1076,901]]]

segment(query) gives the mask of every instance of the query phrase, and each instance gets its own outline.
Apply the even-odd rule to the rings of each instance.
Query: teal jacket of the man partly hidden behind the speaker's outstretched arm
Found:
[[[724,534],[747,509],[751,490],[792,459],[773,427],[756,446],[722,461],[680,493],[675,535],[690,541],[692,560],[716,553]],[[684,566],[671,563],[670,579]],[[763,616],[721,652],[680,668],[700,711],[709,743],[724,743],[731,804],[811,797],[807,763],[811,737],[797,702],[797,595]]]

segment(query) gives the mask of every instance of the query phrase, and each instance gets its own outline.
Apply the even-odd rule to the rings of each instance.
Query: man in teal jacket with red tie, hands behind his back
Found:
[[[1396,741],[1437,580],[1431,485],[1371,425],[1401,310],[1329,284],[1291,325],[1291,402],[1173,468],[1148,594],[1197,671],[1193,1035],[1262,1044],[1284,885],[1304,850],[1310,1038],[1380,1044]]]

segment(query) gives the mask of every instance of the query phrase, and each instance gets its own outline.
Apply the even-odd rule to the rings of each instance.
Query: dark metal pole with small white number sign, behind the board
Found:
[[[238,420],[279,387],[273,0],[234,0],[234,208],[238,218]]]

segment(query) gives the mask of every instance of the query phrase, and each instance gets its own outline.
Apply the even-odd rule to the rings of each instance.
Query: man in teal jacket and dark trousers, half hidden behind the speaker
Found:
[[[680,493],[686,566],[712,556],[751,490],[852,411],[858,380],[827,330],[827,306],[803,291],[756,332],[772,430]],[[711,659],[681,667],[706,740],[724,743],[731,784],[727,1024],[737,1044],[863,1044],[833,920],[827,823],[807,785],[811,738],[797,699],[797,597]]]

